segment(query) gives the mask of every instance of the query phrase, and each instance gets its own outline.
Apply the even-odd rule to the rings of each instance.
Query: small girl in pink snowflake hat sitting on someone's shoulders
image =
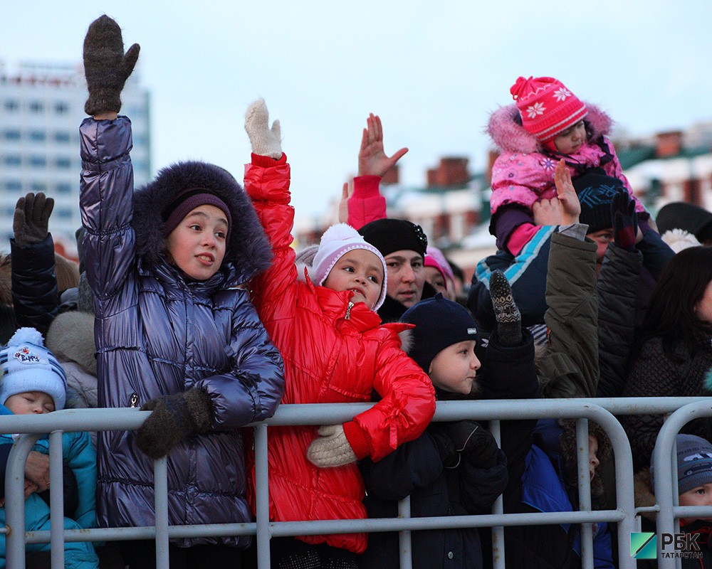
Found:
[[[494,112],[487,128],[500,151],[492,167],[490,232],[498,248],[517,255],[540,225],[558,223],[552,198],[554,169],[561,159],[572,178],[600,168],[633,192],[606,136],[612,121],[602,110],[551,77],[520,77],[510,92],[515,103]],[[648,213],[633,199],[639,219],[647,220]]]

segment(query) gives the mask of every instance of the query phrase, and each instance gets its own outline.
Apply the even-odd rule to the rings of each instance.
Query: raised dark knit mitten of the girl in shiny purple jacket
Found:
[[[134,43],[124,54],[121,28],[109,16],[91,23],[84,38],[84,74],[89,98],[87,115],[121,110],[121,90],[131,75],[140,47]]]

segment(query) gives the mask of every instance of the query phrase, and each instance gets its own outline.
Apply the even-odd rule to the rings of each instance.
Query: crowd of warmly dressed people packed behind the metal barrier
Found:
[[[518,78],[514,103],[491,117],[498,252],[465,286],[419,225],[387,216],[379,183],[407,149],[385,154],[377,115],[341,223],[300,251],[281,125],[263,100],[246,110],[244,186],[187,161],[135,190],[120,95],[139,53],[124,50],[108,16],[89,26],[80,263],[56,256],[43,193],[17,202],[0,263],[0,414],[151,411],[135,432],[64,435],[66,528],[153,525],[153,463],[164,456],[171,525],[253,521],[243,427],[280,403],[372,406],[342,424],[268,430],[271,521],[394,517],[405,496],[414,517],[487,514],[498,496],[507,513],[575,511],[575,422],[504,421],[498,445],[486,422],[431,421],[436,401],[712,394],[712,213],[669,204],[656,223],[622,172],[609,117],[559,80]],[[621,421],[637,499],[654,503],[662,418]],[[695,420],[679,435],[680,504],[712,505],[711,425]],[[12,444],[0,437],[2,506]],[[588,449],[592,501],[603,507],[615,474],[594,422]],[[46,440],[25,475],[26,527],[46,529]],[[708,522],[681,525],[703,536],[711,564]],[[413,566],[491,566],[488,532],[413,532]],[[596,568],[617,565],[612,533],[593,524]],[[508,568],[581,563],[575,525],[510,526],[505,540]],[[66,566],[155,567],[154,541],[117,543],[66,543]],[[46,563],[48,548],[28,546],[28,564]],[[275,537],[270,554],[278,569],[393,568],[399,543],[394,532]],[[252,568],[256,548],[249,536],[187,537],[171,541],[169,558]]]

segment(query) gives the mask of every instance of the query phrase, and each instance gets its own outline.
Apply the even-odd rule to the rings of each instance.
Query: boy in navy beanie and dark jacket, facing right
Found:
[[[481,363],[477,325],[467,310],[438,293],[410,307],[401,321],[414,324],[404,349],[428,374],[436,397],[470,395]],[[362,460],[359,467],[370,518],[397,516],[397,503],[407,495],[414,518],[488,514],[508,482],[504,453],[473,420],[431,422],[416,440],[378,462]],[[416,569],[483,566],[476,528],[417,532],[412,544]],[[360,567],[397,567],[398,550],[397,533],[372,533]]]

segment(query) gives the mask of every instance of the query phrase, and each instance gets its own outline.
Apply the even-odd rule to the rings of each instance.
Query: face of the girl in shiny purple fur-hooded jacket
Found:
[[[207,280],[218,272],[225,257],[227,230],[220,208],[198,206],[168,234],[168,252],[188,277]]]

